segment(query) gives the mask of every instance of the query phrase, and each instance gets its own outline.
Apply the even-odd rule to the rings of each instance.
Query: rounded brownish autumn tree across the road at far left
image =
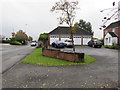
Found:
[[[21,42],[22,44],[27,44],[28,36],[27,36],[27,34],[25,34],[25,32],[23,32],[22,30],[19,30],[15,34],[15,40]]]

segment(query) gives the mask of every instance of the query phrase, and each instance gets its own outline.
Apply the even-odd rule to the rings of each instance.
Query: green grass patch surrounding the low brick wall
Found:
[[[64,66],[64,65],[85,65],[95,62],[96,59],[90,56],[85,56],[84,63],[74,63],[69,61],[64,61],[56,58],[50,58],[42,56],[42,49],[37,48],[33,53],[28,55],[23,59],[22,63],[33,64],[33,65],[44,65],[44,66]]]

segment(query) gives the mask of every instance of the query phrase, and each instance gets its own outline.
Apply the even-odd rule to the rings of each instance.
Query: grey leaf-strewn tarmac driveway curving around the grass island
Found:
[[[84,52],[97,60],[89,65],[59,67],[19,63],[3,74],[3,88],[114,88],[118,86],[117,50],[78,46],[76,51]]]

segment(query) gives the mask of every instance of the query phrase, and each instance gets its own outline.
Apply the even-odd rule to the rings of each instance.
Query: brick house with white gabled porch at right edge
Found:
[[[120,20],[108,25],[103,35],[104,45],[120,45]]]

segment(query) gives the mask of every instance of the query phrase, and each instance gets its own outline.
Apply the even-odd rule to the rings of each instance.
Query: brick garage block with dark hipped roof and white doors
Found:
[[[71,30],[69,27],[58,26],[49,33],[48,43],[51,45],[52,42],[56,40],[65,41],[70,39],[70,35]],[[87,45],[88,41],[90,41],[92,37],[93,33],[77,28],[73,36],[74,45]]]

